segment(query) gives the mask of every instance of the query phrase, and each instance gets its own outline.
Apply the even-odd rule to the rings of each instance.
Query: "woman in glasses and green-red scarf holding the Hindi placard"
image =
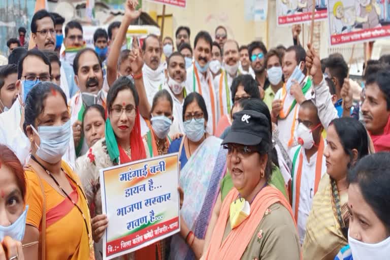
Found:
[[[89,148],[76,163],[93,216],[96,259],[102,258],[102,236],[109,225],[107,216],[102,214],[99,170],[150,157],[149,148],[141,136],[139,96],[133,82],[127,77],[117,79],[110,87],[106,104],[105,138]],[[155,258],[156,252],[160,251],[157,244],[152,244],[122,257],[161,259]]]

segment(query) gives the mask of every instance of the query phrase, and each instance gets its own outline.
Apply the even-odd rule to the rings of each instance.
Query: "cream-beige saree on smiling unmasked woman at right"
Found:
[[[345,193],[335,200],[331,182],[330,176],[325,174],[314,196],[303,243],[304,260],[333,260],[339,250],[348,244],[340,224],[342,221],[348,227],[349,214],[346,208],[348,194]],[[341,209],[341,214],[337,213],[337,208]]]

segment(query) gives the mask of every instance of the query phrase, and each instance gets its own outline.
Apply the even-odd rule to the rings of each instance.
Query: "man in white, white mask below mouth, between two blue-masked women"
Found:
[[[167,60],[166,82],[163,89],[171,94],[173,100],[173,122],[169,134],[184,133],[183,104],[186,96],[185,91],[185,59],[180,52],[174,52]]]

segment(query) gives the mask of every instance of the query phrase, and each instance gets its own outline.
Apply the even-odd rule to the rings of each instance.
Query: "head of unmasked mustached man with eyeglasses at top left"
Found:
[[[31,37],[39,50],[54,50],[56,43],[54,24],[54,17],[45,9],[32,16]]]

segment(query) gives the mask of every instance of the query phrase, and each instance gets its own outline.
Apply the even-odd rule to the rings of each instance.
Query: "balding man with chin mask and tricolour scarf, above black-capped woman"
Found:
[[[224,114],[230,114],[233,106],[231,86],[235,77],[238,76],[238,67],[240,56],[238,52],[238,43],[234,40],[228,40],[223,45],[223,63],[222,73],[214,79],[214,89],[218,99],[217,122]]]

